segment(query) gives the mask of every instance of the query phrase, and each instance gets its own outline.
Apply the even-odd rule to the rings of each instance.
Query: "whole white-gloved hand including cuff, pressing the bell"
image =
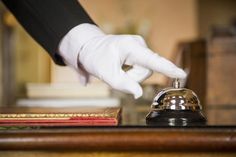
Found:
[[[80,24],[69,31],[59,45],[59,54],[79,73],[83,84],[93,75],[135,98],[143,93],[139,82],[152,71],[172,78],[186,77],[182,69],[147,48],[141,36],[106,35],[92,24]],[[123,64],[133,68],[125,72]]]

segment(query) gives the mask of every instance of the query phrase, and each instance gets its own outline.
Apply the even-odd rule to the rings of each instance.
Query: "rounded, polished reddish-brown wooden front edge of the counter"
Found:
[[[0,132],[1,150],[236,152],[235,128],[77,128]]]

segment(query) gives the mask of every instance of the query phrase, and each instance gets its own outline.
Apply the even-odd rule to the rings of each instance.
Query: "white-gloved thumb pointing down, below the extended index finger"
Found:
[[[109,80],[104,79],[112,88],[120,90],[129,94],[133,94],[135,99],[143,95],[143,90],[141,86],[131,79],[123,70],[115,74]]]

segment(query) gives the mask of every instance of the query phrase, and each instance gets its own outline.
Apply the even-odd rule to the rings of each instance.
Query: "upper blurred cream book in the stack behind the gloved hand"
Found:
[[[79,83],[27,83],[28,98],[108,98],[110,88],[105,83],[87,86]]]

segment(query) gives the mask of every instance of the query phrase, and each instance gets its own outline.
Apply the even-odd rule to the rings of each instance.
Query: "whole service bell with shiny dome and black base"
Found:
[[[160,91],[154,98],[151,111],[146,116],[147,125],[194,126],[205,125],[202,106],[197,95],[189,89],[180,88],[175,79],[173,87]]]

